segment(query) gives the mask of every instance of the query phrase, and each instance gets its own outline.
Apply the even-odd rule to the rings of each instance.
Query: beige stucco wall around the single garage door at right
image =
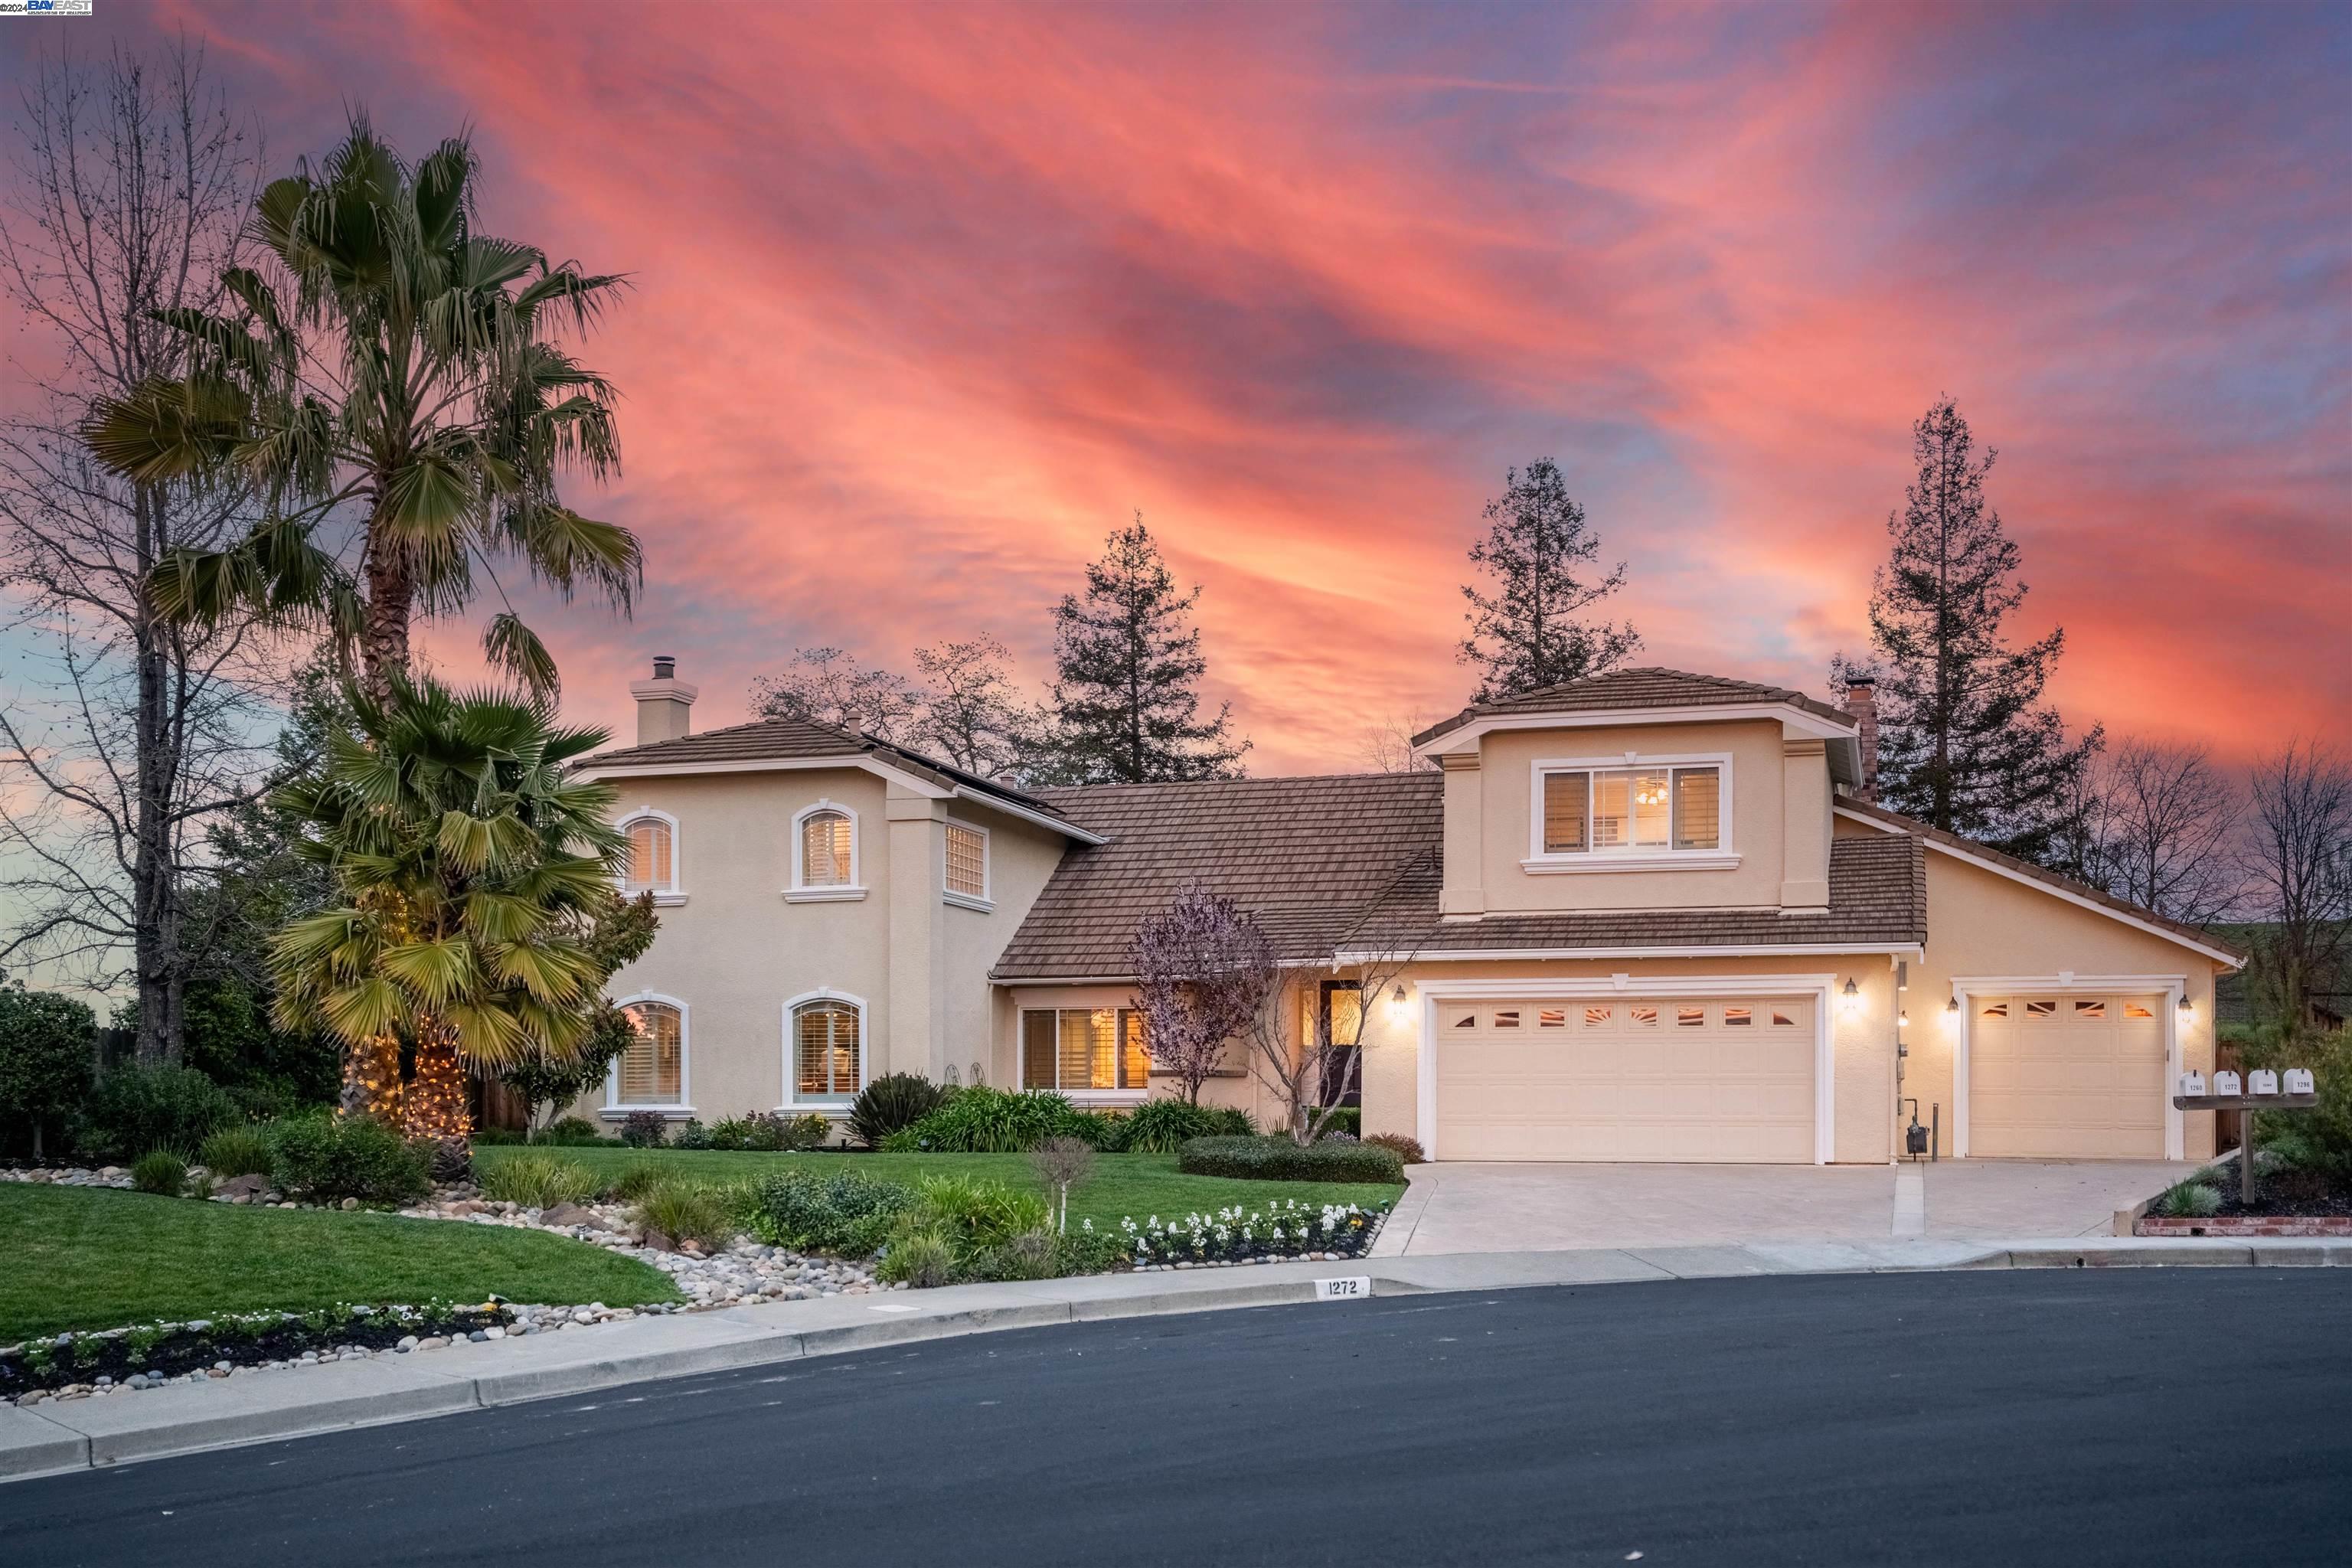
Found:
[[[1877,827],[1839,818],[1837,832],[1839,837],[1875,835]],[[2056,980],[2060,971],[2086,978],[2145,978],[2143,985],[2098,985],[2112,997],[2154,997],[2171,980],[2180,980],[2190,999],[2190,1016],[2183,1020],[2171,1006],[2166,1006],[2166,1016],[2178,1030],[2183,1067],[2213,1070],[2213,978],[2218,971],[2213,959],[2152,931],[1929,849],[1926,954],[1910,966],[1912,1027],[1903,1032],[1905,1044],[1910,1044],[1903,1093],[1919,1100],[1922,1121],[1929,1121],[1929,1107],[1943,1107],[1945,1154],[1955,1152],[1957,1114],[1959,1020],[1945,1009],[1955,976]],[[2016,987],[2016,992],[2065,994],[2056,985]],[[2185,1159],[2213,1157],[2213,1112],[2187,1114],[2180,1131]]]

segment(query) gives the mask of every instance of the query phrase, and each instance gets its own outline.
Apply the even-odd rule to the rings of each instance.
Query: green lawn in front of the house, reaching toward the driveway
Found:
[[[863,1171],[887,1180],[946,1173],[1000,1180],[1009,1187],[1037,1187],[1028,1154],[722,1154],[715,1150],[609,1150],[593,1145],[522,1150],[499,1145],[477,1147],[473,1157],[480,1164],[496,1164],[524,1152],[574,1159],[600,1175],[619,1175],[633,1164],[659,1161],[710,1182],[741,1182],[783,1166],[811,1166],[816,1171]],[[1263,1208],[1282,1199],[1385,1208],[1397,1201],[1399,1192],[1404,1187],[1378,1182],[1237,1182],[1223,1175],[1185,1175],[1176,1168],[1174,1154],[1103,1154],[1094,1161],[1094,1178],[1070,1192],[1070,1222],[1094,1220],[1096,1229],[1103,1229],[1129,1215],[1141,1225],[1150,1215],[1176,1220],[1195,1208],[1202,1213],[1230,1204]]]

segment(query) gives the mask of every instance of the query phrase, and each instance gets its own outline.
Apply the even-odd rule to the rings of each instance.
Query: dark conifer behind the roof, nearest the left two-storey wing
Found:
[[[1200,588],[1176,592],[1143,512],[1105,541],[1087,595],[1054,609],[1054,780],[1240,776],[1249,741],[1230,741],[1230,703],[1200,719],[1195,684],[1209,665],[1188,625],[1197,599]]]

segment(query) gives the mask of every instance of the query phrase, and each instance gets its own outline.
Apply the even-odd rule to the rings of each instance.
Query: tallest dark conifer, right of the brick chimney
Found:
[[[2002,623],[2025,602],[2018,545],[1985,505],[1994,451],[1978,454],[1969,421],[1943,397],[1912,425],[1917,477],[1889,512],[1893,557],[1872,578],[1875,661],[1839,658],[1879,677],[1879,799],[1945,832],[2056,865],[2077,837],[2082,771],[2103,733],[2067,741],[2042,703],[2065,628],[2023,649]]]

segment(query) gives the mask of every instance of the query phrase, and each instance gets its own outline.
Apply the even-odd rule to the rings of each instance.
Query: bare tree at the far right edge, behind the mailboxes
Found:
[[[2352,762],[2288,741],[2253,766],[2246,882],[2272,922],[2258,966],[2279,1020],[2300,1025],[2319,980],[2352,957]]]

